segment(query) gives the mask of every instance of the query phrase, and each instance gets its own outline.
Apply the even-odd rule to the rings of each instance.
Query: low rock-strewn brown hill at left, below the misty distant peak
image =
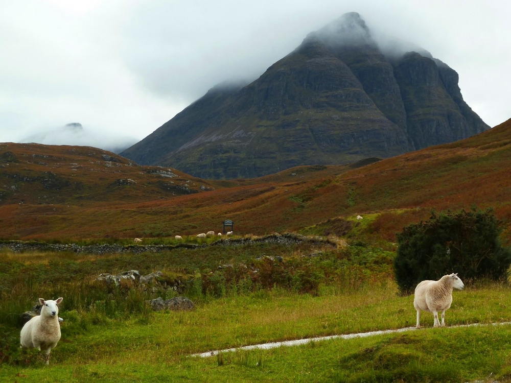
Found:
[[[212,185],[174,169],[140,166],[92,147],[0,143],[0,204],[126,203]]]

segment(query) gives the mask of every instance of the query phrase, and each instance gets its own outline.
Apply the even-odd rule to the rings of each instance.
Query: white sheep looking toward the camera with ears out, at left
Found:
[[[21,347],[38,348],[46,351],[46,364],[50,364],[50,351],[57,346],[60,340],[59,308],[57,304],[64,298],[56,301],[39,298],[42,304],[41,314],[25,323],[20,333]]]

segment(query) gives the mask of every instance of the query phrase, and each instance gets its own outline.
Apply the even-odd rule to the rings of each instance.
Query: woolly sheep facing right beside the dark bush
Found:
[[[458,274],[444,275],[437,281],[423,280],[415,288],[415,298],[413,306],[417,310],[417,328],[421,325],[421,310],[433,313],[435,318],[433,327],[445,326],[445,312],[451,307],[452,290],[461,290],[464,288],[463,282],[458,278]],[[442,324],[438,320],[438,312],[442,312]]]

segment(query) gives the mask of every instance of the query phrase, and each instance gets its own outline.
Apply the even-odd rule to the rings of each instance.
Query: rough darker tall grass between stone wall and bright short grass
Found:
[[[12,351],[19,342],[16,335],[21,326],[19,315],[30,310],[38,298],[64,297],[60,308],[67,313],[67,331],[80,334],[91,325],[109,325],[112,321],[130,318],[150,323],[154,314],[147,301],[157,296],[168,299],[181,294],[196,304],[206,304],[217,298],[249,296],[272,289],[313,296],[326,291],[326,286],[338,292],[356,291],[364,285],[385,280],[390,275],[392,258],[390,252],[368,247],[338,250],[300,244],[174,251],[101,256],[55,252],[0,253],[3,260],[3,266],[0,266],[0,328],[12,335],[0,351],[4,353],[3,360],[20,361],[19,353]],[[282,255],[273,255],[275,252]],[[230,255],[226,256],[226,253]],[[188,264],[193,257],[197,257],[196,268],[191,270]],[[217,260],[212,262],[212,259]],[[231,263],[223,264],[226,260]],[[110,270],[122,271],[124,266],[120,265],[126,265],[124,270],[127,270],[137,264],[154,265],[153,262],[164,266],[164,280],[169,286],[177,278],[181,280],[177,289],[158,286],[153,291],[137,283],[123,282],[115,286],[96,280],[100,271],[106,271],[107,265]],[[165,266],[168,262],[174,262],[174,267]],[[219,267],[211,268],[219,263]],[[154,270],[154,266],[151,269]]]

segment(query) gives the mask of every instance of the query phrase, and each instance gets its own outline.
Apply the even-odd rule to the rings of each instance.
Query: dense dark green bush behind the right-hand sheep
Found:
[[[459,273],[462,279],[505,276],[511,251],[501,246],[501,231],[492,209],[438,215],[432,211],[428,221],[397,234],[394,275],[399,288],[410,293],[420,281],[449,273]]]

